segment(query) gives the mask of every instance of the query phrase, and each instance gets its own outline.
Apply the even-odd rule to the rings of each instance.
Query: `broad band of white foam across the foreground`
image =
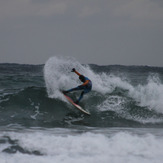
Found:
[[[0,153],[1,163],[162,163],[163,139],[152,134],[135,135],[116,132],[104,135],[59,134],[53,131],[1,132],[28,151],[40,151],[43,155]]]

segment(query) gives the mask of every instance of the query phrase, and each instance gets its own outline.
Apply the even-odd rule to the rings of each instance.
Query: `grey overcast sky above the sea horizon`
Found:
[[[0,63],[163,66],[163,0],[0,0]]]

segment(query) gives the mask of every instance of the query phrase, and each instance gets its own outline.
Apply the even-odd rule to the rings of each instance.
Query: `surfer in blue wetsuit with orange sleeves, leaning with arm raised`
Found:
[[[79,72],[77,72],[75,70],[75,68],[72,69],[71,72],[75,72],[78,76],[81,82],[83,82],[82,85],[79,85],[75,88],[69,89],[67,91],[63,91],[64,94],[72,92],[72,91],[77,91],[77,90],[83,90],[81,92],[81,95],[79,97],[79,99],[75,102],[76,104],[78,104],[80,102],[80,100],[83,98],[84,94],[88,93],[91,91],[92,89],[92,82],[90,79],[88,79],[87,77],[85,77],[84,75],[81,75]]]

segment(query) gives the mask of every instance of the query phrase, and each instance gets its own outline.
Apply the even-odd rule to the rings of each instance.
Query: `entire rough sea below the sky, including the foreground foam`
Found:
[[[91,116],[60,92],[81,84],[72,68],[92,80]],[[163,67],[0,64],[0,163],[29,162],[162,163]]]

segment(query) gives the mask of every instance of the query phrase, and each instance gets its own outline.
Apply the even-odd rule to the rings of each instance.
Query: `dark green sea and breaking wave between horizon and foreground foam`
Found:
[[[62,89],[80,85],[75,67],[92,80],[81,106],[71,106]],[[45,65],[0,64],[0,125],[26,127],[163,127],[163,68],[82,65],[52,57]],[[69,94],[74,100],[79,92]]]

